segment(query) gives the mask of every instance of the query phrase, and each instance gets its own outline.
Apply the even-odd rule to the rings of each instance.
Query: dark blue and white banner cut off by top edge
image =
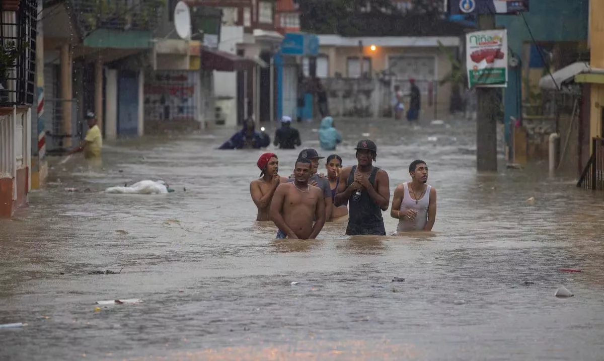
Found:
[[[528,11],[528,0],[445,0],[450,15],[516,14]]]

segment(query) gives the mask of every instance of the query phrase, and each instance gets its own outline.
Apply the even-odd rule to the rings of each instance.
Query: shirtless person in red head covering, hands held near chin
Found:
[[[249,194],[252,196],[254,204],[258,207],[258,216],[256,220],[271,220],[271,200],[281,182],[286,182],[286,178],[281,178],[278,174],[279,161],[274,153],[264,153],[257,162],[260,168],[260,179],[252,180],[249,184]]]

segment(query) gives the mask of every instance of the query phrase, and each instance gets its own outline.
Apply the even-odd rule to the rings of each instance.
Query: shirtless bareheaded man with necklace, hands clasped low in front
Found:
[[[323,192],[308,184],[311,167],[309,159],[298,159],[294,182],[278,185],[272,197],[271,219],[279,229],[277,238],[313,240],[325,224]]]

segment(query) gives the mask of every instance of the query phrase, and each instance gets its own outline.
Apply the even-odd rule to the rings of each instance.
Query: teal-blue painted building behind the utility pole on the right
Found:
[[[508,46],[518,60],[530,59],[532,66],[539,63],[538,46],[545,42],[580,42],[588,36],[589,0],[531,1],[530,9],[521,15],[496,17],[498,27],[507,28]],[[524,46],[532,44],[533,46]],[[530,54],[524,54],[530,51]],[[528,65],[528,64],[527,64]],[[522,69],[520,63],[509,68],[507,88],[504,94],[505,122],[510,117],[522,115]],[[509,127],[506,126],[506,144],[509,144]]]

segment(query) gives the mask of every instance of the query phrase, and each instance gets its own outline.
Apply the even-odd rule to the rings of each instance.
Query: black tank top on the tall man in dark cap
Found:
[[[379,168],[373,167],[369,176],[369,182],[375,186],[376,174]],[[350,170],[346,187],[349,187],[355,181],[356,165]],[[348,200],[349,219],[346,234],[374,234],[386,235],[384,228],[384,218],[382,217],[382,209],[373,202],[373,199],[367,193],[367,190],[362,189],[361,195],[358,196],[355,191]]]

